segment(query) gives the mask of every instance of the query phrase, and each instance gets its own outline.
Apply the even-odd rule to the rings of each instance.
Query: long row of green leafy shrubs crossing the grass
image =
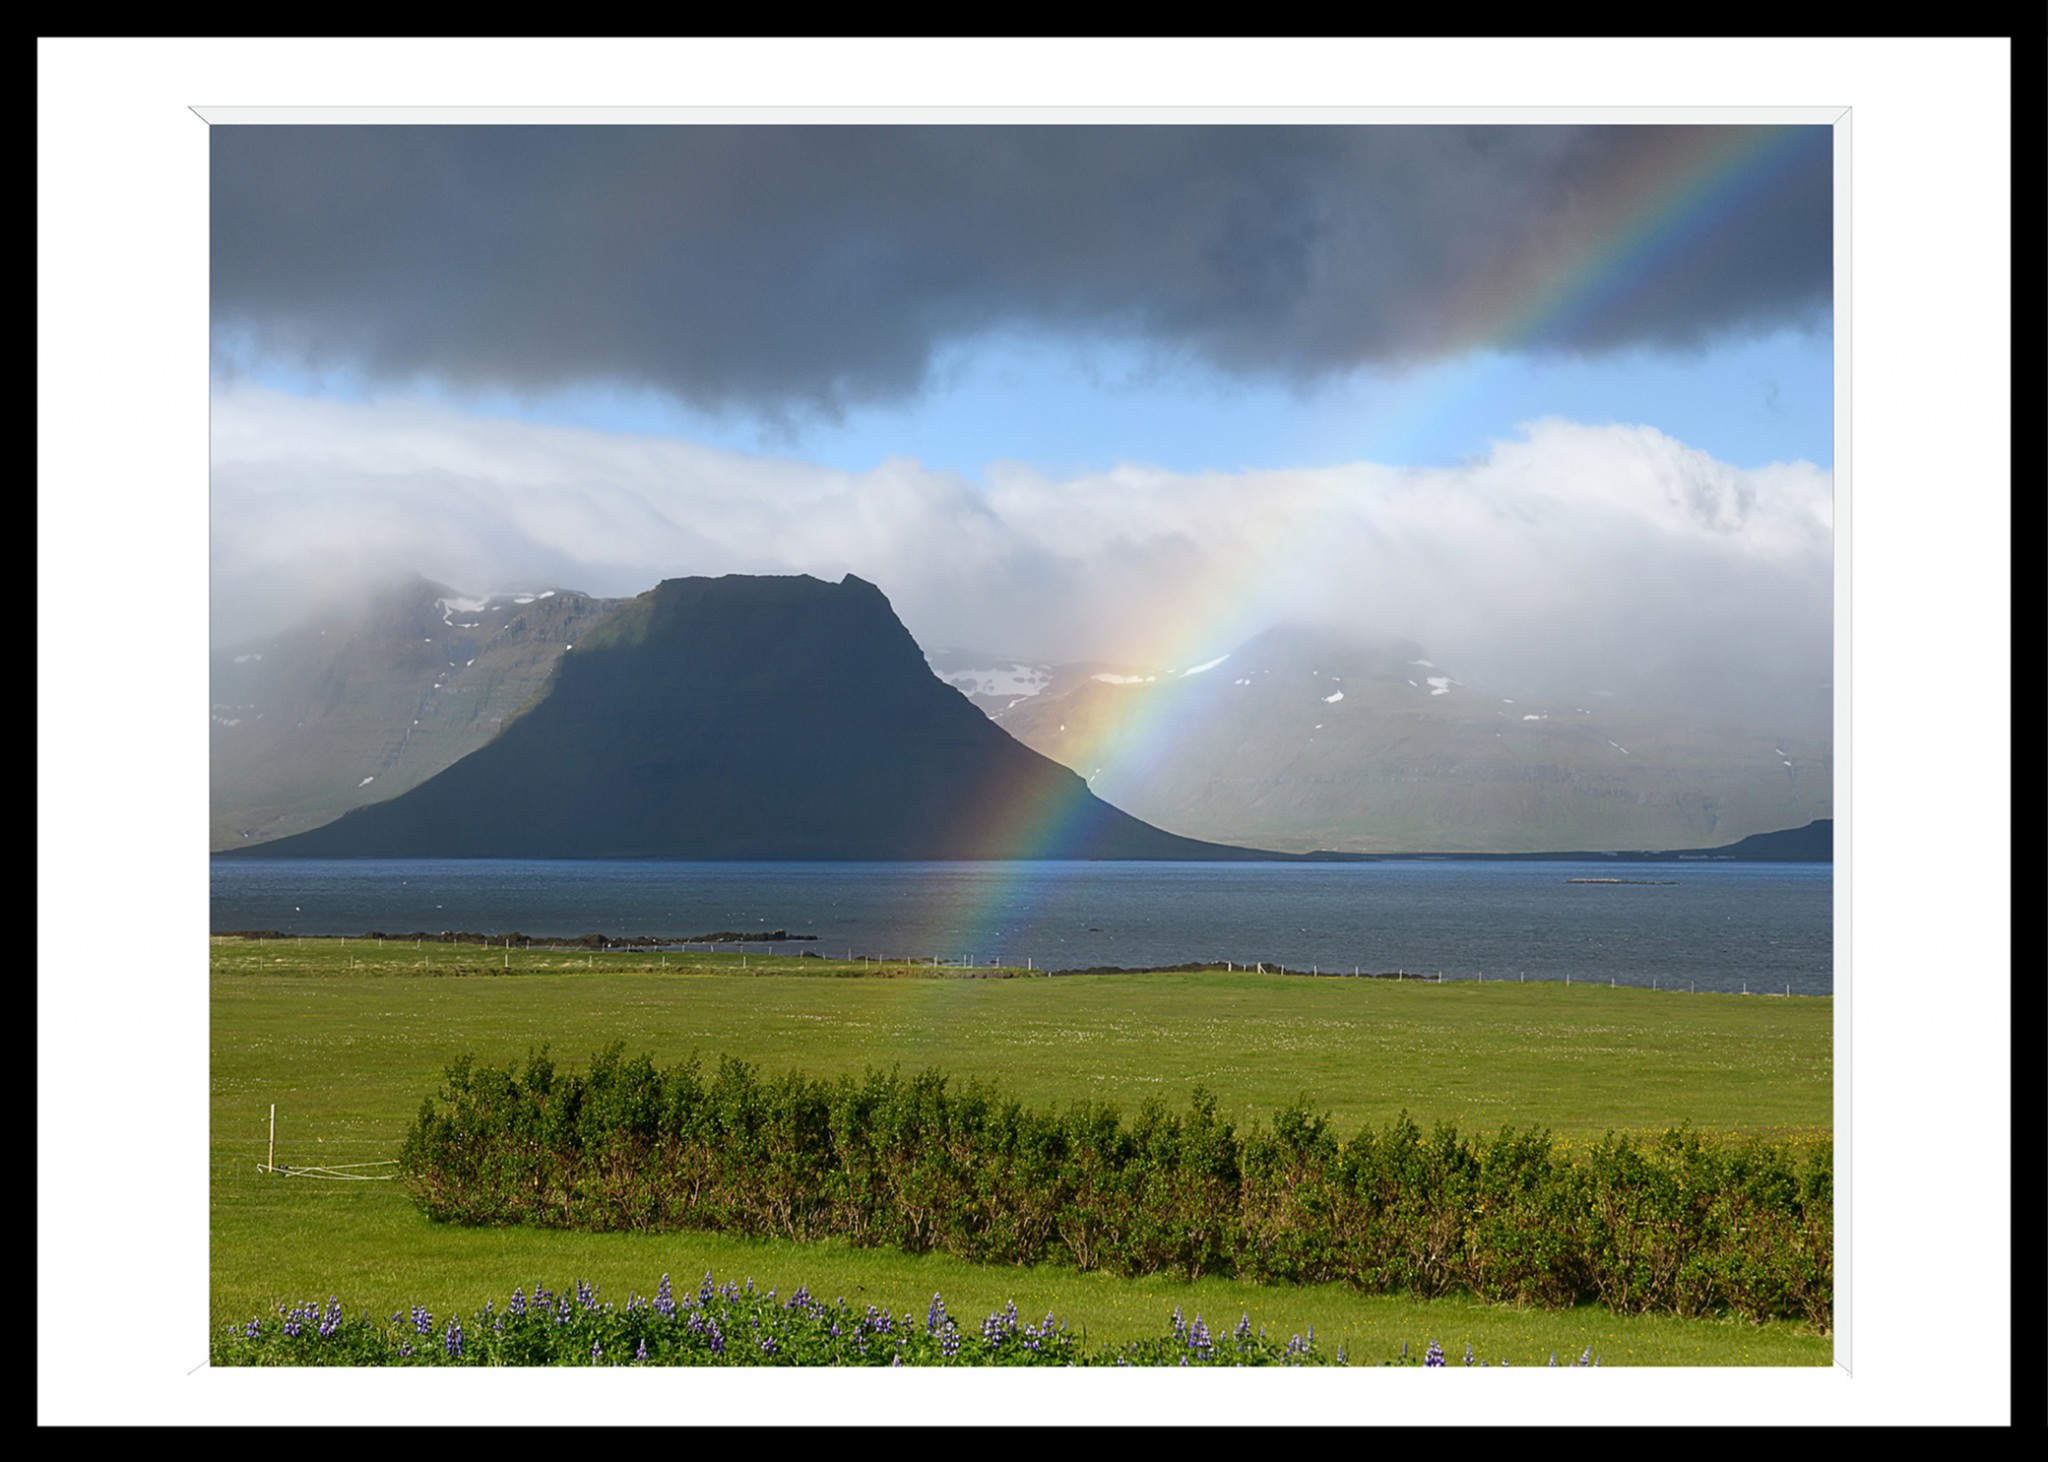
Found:
[[[705,1229],[1118,1276],[1749,1321],[1833,1310],[1833,1147],[1544,1130],[1339,1138],[1294,1102],[1239,1130],[1210,1093],[1028,1110],[940,1073],[807,1079],[725,1057],[446,1071],[408,1128],[418,1206],[457,1224]]]

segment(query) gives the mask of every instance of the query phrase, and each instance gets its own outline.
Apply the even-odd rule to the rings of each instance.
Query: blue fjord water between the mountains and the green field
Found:
[[[213,928],[786,930],[817,942],[778,952],[836,958],[1835,989],[1833,864],[1815,862],[215,860]]]

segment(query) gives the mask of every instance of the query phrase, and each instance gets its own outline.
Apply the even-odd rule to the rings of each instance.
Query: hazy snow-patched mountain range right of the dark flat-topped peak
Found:
[[[934,659],[934,665],[940,661]],[[952,651],[963,674],[1010,665]],[[1184,670],[1018,665],[981,694],[1133,815],[1278,850],[1716,848],[1829,817],[1825,733],[1493,694],[1421,645],[1278,627]],[[944,672],[940,672],[944,674]],[[1825,725],[1808,711],[1804,725]]]

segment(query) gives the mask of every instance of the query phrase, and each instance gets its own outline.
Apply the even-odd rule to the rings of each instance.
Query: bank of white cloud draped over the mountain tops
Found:
[[[1829,678],[1831,475],[1737,469],[1647,426],[1542,420],[1442,469],[995,463],[979,487],[907,459],[846,473],[256,387],[221,387],[213,420],[221,639],[276,586],[369,565],[465,592],[858,573],[924,643],[1034,659],[1188,663],[1311,618],[1503,690],[1688,655]]]

